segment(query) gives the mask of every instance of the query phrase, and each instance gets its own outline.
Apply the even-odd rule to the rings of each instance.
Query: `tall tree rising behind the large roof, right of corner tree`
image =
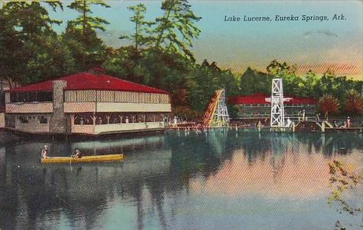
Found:
[[[105,31],[108,21],[97,16],[91,16],[91,5],[100,5],[110,8],[103,1],[73,1],[68,8],[76,10],[80,15],[74,20],[68,21],[62,38],[71,49],[73,57],[80,60],[78,68],[84,70],[91,66],[101,65],[108,57],[104,42],[97,37],[96,30]]]

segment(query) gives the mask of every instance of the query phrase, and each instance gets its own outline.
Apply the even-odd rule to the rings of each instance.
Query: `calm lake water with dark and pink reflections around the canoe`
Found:
[[[329,208],[330,159],[362,172],[361,134],[168,131],[51,142],[52,155],[124,153],[122,163],[38,162],[45,142],[0,146],[0,229],[360,229]],[[362,190],[346,194],[362,204]]]

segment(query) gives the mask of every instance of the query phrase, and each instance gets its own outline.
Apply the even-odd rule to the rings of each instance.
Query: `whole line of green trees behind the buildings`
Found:
[[[130,44],[109,47],[97,36],[97,31],[106,31],[109,22],[94,15],[93,5],[110,8],[104,1],[3,3],[1,79],[14,87],[102,66],[109,75],[171,92],[174,114],[187,117],[200,116],[220,87],[227,96],[270,94],[273,77],[282,77],[285,93],[298,97],[319,99],[329,94],[340,100],[347,97],[347,90],[359,92],[362,87],[362,81],[336,76],[331,70],[322,77],[312,71],[298,77],[295,65],[277,60],[266,72],[248,67],[242,75],[223,70],[215,62],[197,63],[192,47],[202,32],[197,25],[202,18],[187,0],[161,1],[161,14],[153,21],[145,19],[148,12],[143,3],[129,6],[134,29],[132,34],[120,34],[119,39]],[[52,26],[62,21],[51,18],[48,11],[64,8],[75,10],[78,16],[70,18],[65,31],[57,34]]]

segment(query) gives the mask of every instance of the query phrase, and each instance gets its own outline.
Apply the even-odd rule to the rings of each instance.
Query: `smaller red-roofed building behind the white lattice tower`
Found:
[[[315,116],[316,99],[284,96],[285,116],[298,116],[298,110],[306,110],[307,116]],[[238,109],[239,118],[270,118],[270,96],[252,94],[248,96],[229,97],[229,104]]]

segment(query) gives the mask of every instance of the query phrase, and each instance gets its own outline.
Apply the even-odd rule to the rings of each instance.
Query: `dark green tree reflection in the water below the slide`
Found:
[[[178,136],[171,133],[167,143],[172,149],[171,176],[178,188],[188,187],[194,175],[215,174],[224,160],[231,159],[233,141],[221,130],[209,133],[194,133]]]

